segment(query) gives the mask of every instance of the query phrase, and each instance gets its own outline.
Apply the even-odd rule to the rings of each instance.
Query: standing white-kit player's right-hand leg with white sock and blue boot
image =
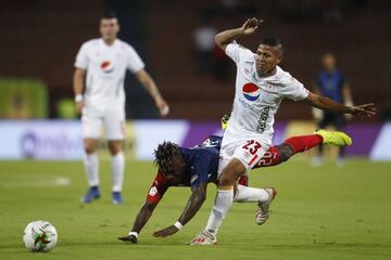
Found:
[[[121,140],[110,140],[109,150],[112,156],[112,173],[113,173],[113,204],[122,204],[122,188],[124,183],[125,157],[122,152]]]

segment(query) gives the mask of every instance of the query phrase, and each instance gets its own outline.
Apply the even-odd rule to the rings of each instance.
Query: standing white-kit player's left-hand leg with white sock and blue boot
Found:
[[[99,159],[96,153],[98,141],[94,139],[85,139],[84,166],[87,172],[89,190],[87,194],[81,197],[81,203],[91,203],[93,199],[100,198],[99,191]]]

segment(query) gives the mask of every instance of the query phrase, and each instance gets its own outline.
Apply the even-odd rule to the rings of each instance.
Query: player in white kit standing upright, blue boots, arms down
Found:
[[[143,62],[131,46],[117,39],[118,31],[116,16],[108,13],[100,21],[101,38],[85,42],[76,56],[73,82],[76,107],[81,113],[86,151],[84,165],[89,183],[89,190],[81,198],[83,203],[91,203],[100,197],[99,160],[96,151],[102,126],[112,155],[112,199],[114,204],[122,203],[125,171],[122,152],[125,131],[124,80],[127,69],[154,99],[161,116],[168,113],[168,105],[146,72]]]

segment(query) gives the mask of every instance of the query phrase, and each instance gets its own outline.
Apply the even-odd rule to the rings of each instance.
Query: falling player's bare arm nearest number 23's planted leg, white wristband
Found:
[[[173,225],[154,232],[153,236],[166,237],[169,235],[174,235],[182,227],[182,225],[189,222],[195,216],[195,213],[199,211],[202,204],[206,199],[206,185],[207,183],[202,183],[200,186],[193,188],[192,194],[186,205],[186,208],[184,209],[184,212],[178,219],[178,221]]]

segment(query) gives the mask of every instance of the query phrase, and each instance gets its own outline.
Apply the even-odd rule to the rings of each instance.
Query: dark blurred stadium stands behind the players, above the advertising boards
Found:
[[[2,1],[0,118],[77,118],[72,90],[81,42],[99,37],[103,12],[116,12],[119,38],[133,44],[171,104],[172,119],[216,121],[230,110],[235,64],[214,36],[248,17],[264,20],[257,35],[240,39],[253,51],[276,36],[286,48],[281,64],[308,89],[320,58],[332,52],[349,77],[356,103],[375,102],[370,120],[391,120],[391,3],[386,0],[213,1]],[[126,79],[129,119],[157,118],[143,88]],[[277,119],[311,119],[306,106],[287,102]],[[364,119],[362,119],[364,120]]]

